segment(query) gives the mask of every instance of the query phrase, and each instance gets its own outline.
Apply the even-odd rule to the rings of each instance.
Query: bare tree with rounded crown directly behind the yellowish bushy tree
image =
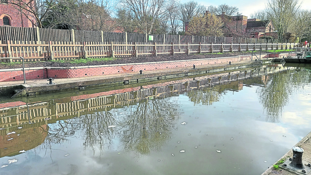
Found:
[[[194,16],[205,13],[206,7],[198,4],[196,1],[185,2],[180,5],[179,20],[183,23],[183,31],[185,31],[185,23],[189,22]]]

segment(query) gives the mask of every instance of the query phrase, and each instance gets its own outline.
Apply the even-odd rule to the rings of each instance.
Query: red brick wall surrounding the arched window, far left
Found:
[[[0,26],[3,26],[3,17],[9,17],[10,25],[14,27],[32,27],[31,21],[10,4],[0,4]],[[32,17],[31,17],[32,18]],[[35,21],[35,20],[34,20]]]

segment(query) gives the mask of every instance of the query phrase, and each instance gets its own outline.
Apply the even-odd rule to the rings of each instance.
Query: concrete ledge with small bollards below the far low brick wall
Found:
[[[264,59],[268,62],[271,59]],[[0,95],[13,94],[12,97],[34,96],[44,93],[74,92],[85,89],[96,89],[100,87],[123,86],[135,83],[144,83],[169,78],[186,77],[206,73],[221,73],[243,68],[260,66],[262,61],[240,60],[234,63],[221,63],[214,65],[202,65],[193,67],[183,67],[161,70],[142,70],[137,72],[118,73],[111,75],[101,75],[78,78],[57,78],[49,84],[47,79],[32,79],[24,81],[0,82]]]

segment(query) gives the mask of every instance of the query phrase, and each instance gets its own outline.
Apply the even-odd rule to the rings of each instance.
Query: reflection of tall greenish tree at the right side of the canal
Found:
[[[309,82],[309,71],[288,70],[274,73],[266,87],[258,87],[259,101],[267,111],[266,121],[279,122],[282,109],[287,105],[290,95],[297,87],[303,87]]]

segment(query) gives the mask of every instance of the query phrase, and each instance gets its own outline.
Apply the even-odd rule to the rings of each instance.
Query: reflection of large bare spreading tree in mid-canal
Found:
[[[170,130],[179,116],[178,106],[171,99],[145,99],[129,107],[128,116],[121,122],[124,149],[140,154],[160,149],[170,137]]]

